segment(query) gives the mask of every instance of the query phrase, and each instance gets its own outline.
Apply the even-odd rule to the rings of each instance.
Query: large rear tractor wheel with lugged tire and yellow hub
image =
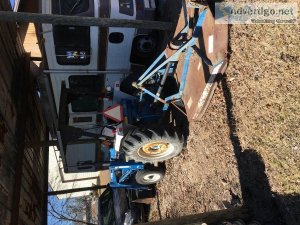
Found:
[[[138,127],[124,138],[122,149],[131,160],[155,163],[177,156],[183,142],[183,136],[172,127]]]

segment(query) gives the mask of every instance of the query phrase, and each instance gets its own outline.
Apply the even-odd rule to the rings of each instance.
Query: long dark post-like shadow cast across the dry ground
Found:
[[[226,76],[221,80],[221,86],[226,102],[230,140],[238,164],[244,206],[250,209],[252,218],[262,224],[300,224],[300,195],[281,196],[272,192],[262,157],[254,149],[241,147]]]

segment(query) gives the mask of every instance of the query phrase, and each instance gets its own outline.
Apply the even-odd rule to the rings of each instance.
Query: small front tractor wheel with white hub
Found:
[[[165,171],[161,167],[151,167],[145,170],[139,170],[135,174],[135,180],[138,184],[150,185],[161,181],[165,176]]]

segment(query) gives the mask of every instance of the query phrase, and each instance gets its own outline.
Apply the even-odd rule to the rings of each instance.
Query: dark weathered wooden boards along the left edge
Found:
[[[9,10],[8,0],[0,1],[0,10]],[[32,140],[43,141],[46,137],[34,78],[28,73],[29,60],[25,62],[24,55],[16,23],[0,22],[1,225],[39,225],[46,221],[47,152],[23,145]],[[24,90],[25,86],[28,91]]]

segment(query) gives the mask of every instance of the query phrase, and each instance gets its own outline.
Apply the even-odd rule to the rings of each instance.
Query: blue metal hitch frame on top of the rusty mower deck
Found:
[[[203,6],[199,6],[198,8],[202,8]],[[184,11],[186,12],[186,8],[184,7]],[[169,103],[171,101],[178,101],[181,99],[182,95],[183,95],[183,90],[185,88],[185,84],[186,84],[186,78],[187,78],[187,73],[188,73],[188,69],[189,69],[189,60],[190,57],[192,55],[193,50],[195,49],[196,45],[195,45],[195,41],[196,38],[199,37],[202,25],[205,21],[205,17],[207,14],[207,9],[204,9],[197,20],[195,29],[193,31],[193,35],[192,37],[186,41],[173,55],[171,55],[169,58],[167,58],[163,63],[161,63],[160,65],[157,66],[157,64],[163,59],[164,56],[166,56],[166,52],[164,51],[163,53],[161,53],[158,58],[149,66],[149,68],[141,75],[141,77],[137,80],[137,82],[134,82],[132,85],[134,87],[136,87],[137,89],[140,89],[142,91],[141,96],[140,96],[140,101],[143,98],[143,94],[148,94],[151,97],[153,97],[155,100],[154,101],[160,101],[164,104],[163,110],[167,110],[169,107]],[[187,16],[187,12],[185,13],[185,15]],[[186,18],[186,26],[182,29],[182,31],[177,35],[177,37],[180,36],[185,36],[188,34],[188,30],[189,30],[189,22],[188,19]],[[178,93],[168,96],[165,99],[160,98],[160,93],[152,93],[151,91],[149,91],[148,89],[143,87],[143,84],[151,79],[157,72],[159,72],[160,70],[163,70],[163,68],[167,65],[167,64],[174,64],[179,60],[179,56],[186,51],[186,56],[184,59],[184,65],[183,65],[183,70],[182,70],[182,74],[181,74],[181,82],[180,82],[180,87],[178,90]],[[197,52],[198,53],[198,52]],[[205,54],[201,54],[198,53],[199,57],[202,58],[202,60],[208,64],[209,66],[214,66],[211,64],[211,62],[209,61],[209,59],[206,57]],[[156,68],[155,68],[156,66]],[[168,71],[167,71],[168,73]]]

